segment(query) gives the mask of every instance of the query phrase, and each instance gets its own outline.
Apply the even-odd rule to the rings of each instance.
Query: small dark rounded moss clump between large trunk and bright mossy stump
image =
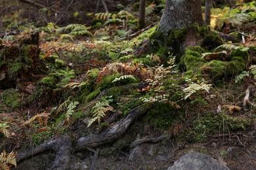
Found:
[[[224,41],[221,39],[221,37],[219,37],[219,35],[209,33],[203,39],[201,46],[207,50],[213,50],[222,44],[224,44]]]

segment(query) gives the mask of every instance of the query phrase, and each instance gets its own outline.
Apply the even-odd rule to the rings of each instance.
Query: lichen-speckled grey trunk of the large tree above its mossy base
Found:
[[[171,29],[189,27],[194,23],[203,25],[200,0],[166,0],[158,30],[167,35]]]

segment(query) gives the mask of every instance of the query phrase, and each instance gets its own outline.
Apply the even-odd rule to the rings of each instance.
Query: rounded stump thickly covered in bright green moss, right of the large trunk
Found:
[[[221,41],[217,44],[221,44]],[[188,48],[179,63],[183,71],[186,71],[185,75],[192,72],[215,81],[232,78],[245,70],[249,61],[248,48],[234,45],[215,48],[214,52],[207,52],[200,46]]]

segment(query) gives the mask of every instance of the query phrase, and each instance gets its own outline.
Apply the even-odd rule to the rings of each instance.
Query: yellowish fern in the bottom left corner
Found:
[[[16,167],[16,153],[11,152],[7,154],[5,150],[0,155],[0,169],[10,169],[9,165],[14,165]]]

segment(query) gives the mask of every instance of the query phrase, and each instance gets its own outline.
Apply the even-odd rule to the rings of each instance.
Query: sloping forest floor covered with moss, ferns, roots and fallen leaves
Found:
[[[235,27],[242,12],[228,14],[239,41],[183,56],[135,55],[156,24],[49,23],[1,40],[0,151],[18,152],[17,169],[167,169],[189,150],[256,169],[256,17]]]

